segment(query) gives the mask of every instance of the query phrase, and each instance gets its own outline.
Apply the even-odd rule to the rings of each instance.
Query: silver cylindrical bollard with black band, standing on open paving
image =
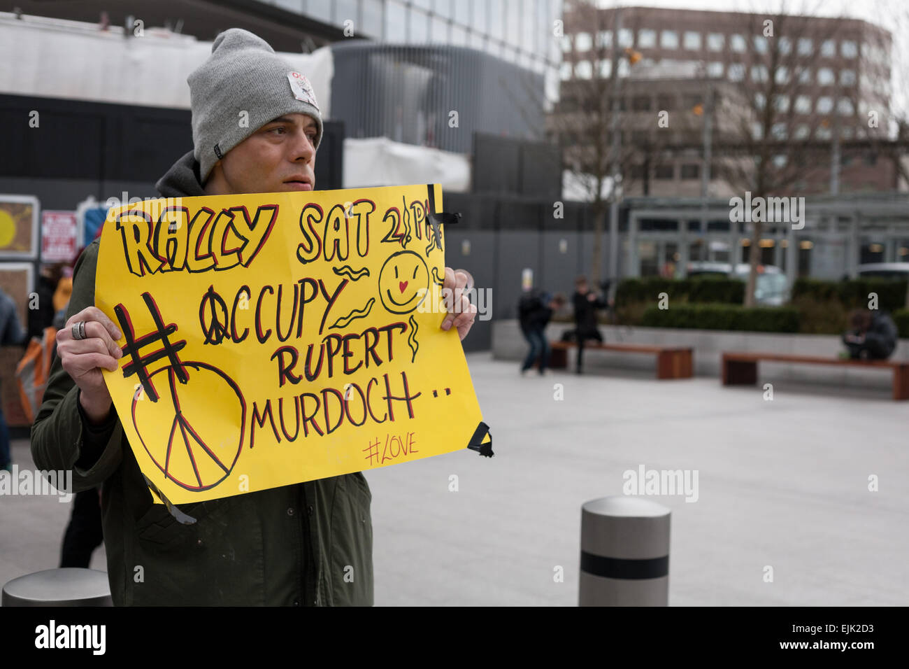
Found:
[[[581,507],[581,606],[669,604],[670,510],[614,496]]]

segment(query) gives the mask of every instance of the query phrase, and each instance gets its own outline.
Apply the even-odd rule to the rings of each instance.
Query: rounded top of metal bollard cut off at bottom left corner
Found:
[[[107,574],[63,567],[27,573],[3,586],[4,606],[113,606]]]

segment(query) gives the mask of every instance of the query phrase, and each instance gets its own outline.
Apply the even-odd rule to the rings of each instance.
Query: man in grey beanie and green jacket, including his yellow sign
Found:
[[[360,470],[467,445],[441,431],[483,436],[451,331],[476,308],[428,222],[441,191],[301,197],[315,94],[251,33],[218,35],[188,82],[195,149],[157,184],[183,204],[112,210],[79,258],[35,464],[103,484],[116,605],[371,605]],[[457,297],[434,318],[440,287]]]

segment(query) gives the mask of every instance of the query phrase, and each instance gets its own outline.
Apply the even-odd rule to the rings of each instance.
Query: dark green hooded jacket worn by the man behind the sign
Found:
[[[162,177],[163,197],[205,195],[192,152]],[[98,241],[75,265],[66,319],[95,304]],[[102,486],[115,605],[373,604],[372,494],[361,472],[180,505],[153,499],[114,408],[87,421],[79,388],[54,361],[32,426],[42,470],[73,471],[74,492]]]

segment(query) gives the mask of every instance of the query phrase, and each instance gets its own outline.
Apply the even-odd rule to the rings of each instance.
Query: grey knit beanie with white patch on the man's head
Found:
[[[193,155],[203,184],[228,151],[284,114],[313,117],[318,124],[315,147],[319,147],[322,115],[313,86],[248,30],[231,28],[218,35],[212,55],[186,83],[193,111]],[[243,111],[248,119],[244,120]]]

